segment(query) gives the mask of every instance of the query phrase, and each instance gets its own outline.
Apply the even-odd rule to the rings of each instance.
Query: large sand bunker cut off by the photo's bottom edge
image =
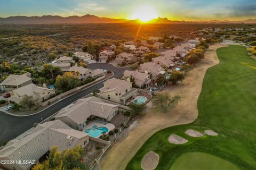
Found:
[[[144,170],[153,170],[157,167],[159,155],[153,151],[148,152],[141,161],[141,168]]]

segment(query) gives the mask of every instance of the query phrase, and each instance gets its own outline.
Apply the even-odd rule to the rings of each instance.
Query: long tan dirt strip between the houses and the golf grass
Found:
[[[226,45],[216,44],[210,46],[205,53],[205,58],[198,63],[193,70],[186,75],[186,79],[177,85],[168,85],[164,91],[170,95],[179,95],[181,101],[177,108],[168,114],[155,112],[150,109],[151,101],[147,103],[147,109],[138,121],[138,125],[118,138],[114,146],[107,150],[101,160],[102,169],[125,169],[132,157],[140,149],[143,143],[148,140],[155,132],[174,125],[188,124],[196,120],[197,99],[201,92],[204,74],[206,70],[219,63],[216,49]]]

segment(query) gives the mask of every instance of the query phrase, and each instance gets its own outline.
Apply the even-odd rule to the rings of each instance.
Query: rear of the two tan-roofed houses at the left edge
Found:
[[[7,93],[12,90],[26,86],[32,83],[29,73],[24,73],[21,75],[10,74],[3,82],[0,83],[1,89],[4,89]]]

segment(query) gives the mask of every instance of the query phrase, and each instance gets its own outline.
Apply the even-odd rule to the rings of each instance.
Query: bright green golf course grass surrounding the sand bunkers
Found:
[[[256,169],[256,61],[244,46],[222,47],[217,54],[220,63],[205,74],[197,120],[155,133],[126,169],[141,169],[148,151],[159,155],[156,169]],[[188,129],[219,135],[194,138],[185,134]],[[171,134],[188,142],[174,145]]]

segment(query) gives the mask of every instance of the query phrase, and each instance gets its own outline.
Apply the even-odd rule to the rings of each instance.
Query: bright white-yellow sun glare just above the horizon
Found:
[[[142,22],[148,22],[157,17],[156,10],[151,6],[140,6],[136,8],[131,15],[132,20],[139,19]]]

